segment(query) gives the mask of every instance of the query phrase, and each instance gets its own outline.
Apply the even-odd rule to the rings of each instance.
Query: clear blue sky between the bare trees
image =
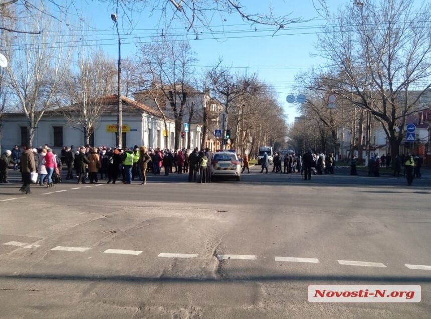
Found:
[[[328,0],[330,10],[335,10],[340,4],[350,3],[351,0]],[[268,11],[269,1],[244,0],[242,4],[247,6],[249,13],[264,13]],[[86,22],[94,30],[91,32],[93,37],[97,39],[107,39],[100,41],[103,50],[113,58],[117,58],[116,31],[111,21],[110,14],[112,8],[108,4],[100,4],[97,0],[82,1],[81,8],[78,9],[85,12]],[[292,12],[292,17],[301,17],[305,20],[314,19],[306,23],[291,24],[286,26],[284,30],[276,33],[274,37],[271,35],[274,27],[255,25],[250,27],[237,14],[227,16],[227,21],[224,21],[225,34],[219,33],[214,35],[199,34],[199,40],[194,40],[196,34],[190,32],[190,39],[193,50],[197,53],[199,60],[198,65],[211,66],[219,57],[222,57],[225,65],[232,67],[248,67],[250,71],[256,71],[262,80],[272,84],[279,95],[279,99],[289,116],[289,122],[292,122],[294,116],[297,115],[294,104],[286,102],[286,96],[289,93],[299,94],[294,89],[294,76],[301,69],[295,68],[310,68],[318,66],[322,63],[319,58],[310,56],[314,52],[314,44],[317,41],[316,32],[319,31],[317,26],[322,25],[325,21],[318,16],[313,7],[312,0],[275,0],[272,2],[274,12],[279,15]],[[134,30],[131,34],[125,34],[120,31],[123,38],[122,58],[133,58],[136,52],[136,38],[141,37],[141,41],[150,41],[150,35],[160,34],[161,31],[156,31],[159,21],[159,13],[154,13],[149,17],[148,12],[142,12],[140,15],[133,17],[135,22]],[[119,20],[122,19],[119,17]],[[221,25],[221,19],[215,18],[211,25]],[[181,28],[180,28],[181,27]],[[308,28],[307,28],[308,27]],[[175,29],[178,28],[178,29]],[[255,31],[256,28],[256,31]],[[152,30],[142,30],[152,29]],[[270,29],[265,31],[265,29]],[[91,29],[90,29],[91,30]],[[220,32],[223,29],[214,27],[213,31]],[[247,31],[238,33],[238,31]],[[207,33],[208,30],[201,29],[200,32]],[[166,32],[166,31],[164,31]],[[171,26],[169,32],[185,33],[185,29],[180,24]],[[126,31],[127,33],[127,31]],[[256,37],[262,35],[264,37]],[[213,39],[221,38],[221,39]],[[223,38],[235,37],[232,39]],[[90,37],[91,38],[91,37]],[[184,37],[179,37],[184,38]],[[209,38],[208,40],[204,40]],[[271,69],[264,69],[264,68]],[[284,69],[283,69],[284,68]],[[233,71],[236,71],[234,69]],[[306,71],[306,69],[303,69]]]

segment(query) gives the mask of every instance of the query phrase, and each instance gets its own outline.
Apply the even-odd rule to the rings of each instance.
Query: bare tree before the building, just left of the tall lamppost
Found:
[[[69,126],[84,133],[86,144],[100,124],[106,107],[103,97],[115,91],[116,75],[115,62],[102,50],[78,52],[78,71],[66,81],[71,106],[62,108],[62,114]]]

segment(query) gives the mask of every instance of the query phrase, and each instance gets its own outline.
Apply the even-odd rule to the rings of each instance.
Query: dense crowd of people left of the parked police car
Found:
[[[62,169],[65,168],[66,180],[75,180],[77,184],[94,184],[106,180],[107,184],[115,184],[121,180],[123,184],[131,184],[138,179],[142,185],[147,184],[147,174],[164,175],[169,173],[188,174],[188,182],[209,183],[209,164],[212,152],[196,147],[191,152],[185,149],[138,147],[91,147],[90,145],[64,146],[61,154],[57,154],[47,144],[38,149],[27,149],[22,152],[18,145],[7,150],[0,157],[0,183],[9,183],[8,168],[20,170],[23,176],[21,192],[30,194],[30,184],[35,183],[47,188],[54,187],[62,181]],[[250,171],[249,171],[250,172]],[[37,179],[32,181],[33,176]],[[99,178],[100,177],[100,178]]]

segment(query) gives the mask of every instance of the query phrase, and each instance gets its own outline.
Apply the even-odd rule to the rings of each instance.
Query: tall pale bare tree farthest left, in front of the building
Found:
[[[19,26],[31,32],[58,28],[54,21],[42,17],[42,13],[35,19],[27,18]],[[56,94],[68,74],[71,50],[48,44],[60,41],[59,37],[27,33],[19,38],[3,38],[10,59],[7,71],[11,91],[19,100],[18,109],[28,119],[29,147],[42,116],[56,106],[53,104]]]

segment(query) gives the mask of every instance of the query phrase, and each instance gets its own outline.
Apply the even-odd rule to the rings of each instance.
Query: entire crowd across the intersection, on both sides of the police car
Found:
[[[131,184],[134,180],[141,181],[142,185],[147,183],[147,174],[160,175],[164,170],[164,175],[171,173],[188,174],[188,182],[209,183],[210,163],[212,152],[193,149],[189,152],[186,149],[173,151],[170,149],[138,147],[91,147],[90,145],[64,146],[61,154],[58,155],[47,144],[38,149],[20,150],[18,145],[12,150],[7,150],[0,156],[0,183],[9,183],[8,168],[13,164],[14,170],[20,170],[23,176],[23,193],[30,193],[30,184],[36,183],[47,188],[54,187],[62,181],[62,169],[65,168],[66,180],[75,180],[77,184],[98,183],[106,180],[107,184],[115,184],[121,181],[124,184]],[[239,156],[240,157],[240,156]],[[247,155],[240,159],[243,169],[242,173],[249,169],[249,158]],[[350,174],[357,175],[356,166],[358,159],[354,155],[351,158]],[[423,158],[419,155],[401,154],[393,159],[389,154],[372,154],[368,161],[368,176],[380,176],[380,168],[389,167],[393,170],[393,176],[399,177],[402,168],[403,175],[407,177],[408,185],[411,185],[413,178],[420,178],[420,169]],[[327,155],[316,153],[311,150],[302,154],[288,152],[282,155],[275,152],[273,158],[273,173],[291,174],[301,173],[305,180],[311,179],[311,174],[334,174],[336,166],[333,153]],[[270,168],[269,156],[265,152],[261,160],[261,173]],[[32,181],[37,175],[37,179]]]

